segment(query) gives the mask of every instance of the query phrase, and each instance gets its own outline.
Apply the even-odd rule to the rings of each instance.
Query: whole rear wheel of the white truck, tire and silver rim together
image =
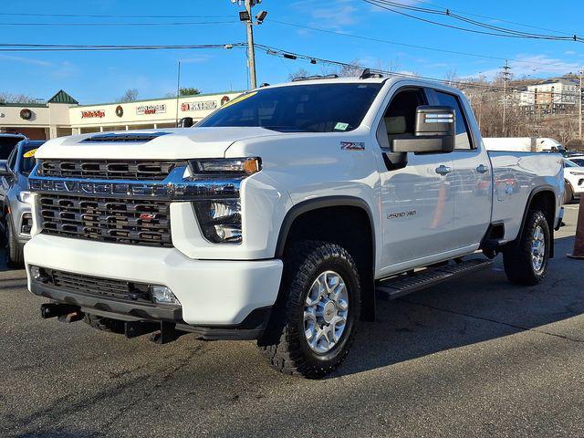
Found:
[[[523,286],[540,283],[547,273],[550,245],[546,216],[541,211],[530,210],[521,235],[503,253],[509,281]]]

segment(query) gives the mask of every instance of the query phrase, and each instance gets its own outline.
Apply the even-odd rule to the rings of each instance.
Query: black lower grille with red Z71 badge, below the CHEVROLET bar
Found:
[[[172,246],[170,203],[41,194],[42,232],[130,245]]]

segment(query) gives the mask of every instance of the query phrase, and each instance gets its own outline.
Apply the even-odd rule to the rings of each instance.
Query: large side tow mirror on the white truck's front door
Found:
[[[448,153],[454,151],[456,113],[451,107],[423,105],[416,110],[413,138],[395,139],[394,152]]]

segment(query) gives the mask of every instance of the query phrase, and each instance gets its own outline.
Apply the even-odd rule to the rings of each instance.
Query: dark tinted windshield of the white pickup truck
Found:
[[[354,130],[381,86],[336,83],[259,89],[226,103],[196,126],[260,126],[281,132]]]

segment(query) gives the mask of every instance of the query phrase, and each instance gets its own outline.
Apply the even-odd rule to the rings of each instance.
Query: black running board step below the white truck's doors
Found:
[[[380,299],[395,299],[411,294],[426,287],[431,287],[459,276],[466,276],[492,266],[491,260],[474,258],[437,268],[428,268],[420,273],[401,274],[381,281],[376,289]]]

